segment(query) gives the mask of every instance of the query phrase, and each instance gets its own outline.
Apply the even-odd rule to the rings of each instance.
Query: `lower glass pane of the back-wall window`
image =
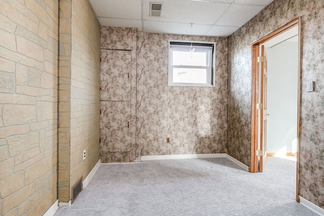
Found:
[[[201,68],[173,68],[173,82],[207,83],[207,69]]]

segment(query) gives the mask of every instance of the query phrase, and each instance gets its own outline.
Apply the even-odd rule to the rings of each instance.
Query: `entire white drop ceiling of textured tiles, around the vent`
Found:
[[[273,0],[89,0],[100,25],[167,34],[229,36]],[[162,3],[160,17],[150,3]]]

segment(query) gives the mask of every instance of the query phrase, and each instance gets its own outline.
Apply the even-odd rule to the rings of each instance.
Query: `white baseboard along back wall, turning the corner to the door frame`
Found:
[[[226,157],[239,165],[240,167],[244,168],[245,170],[249,171],[249,166],[245,165],[244,163],[236,160],[235,158],[229,156],[225,153],[219,154],[172,154],[172,155],[148,155],[148,156],[141,156],[141,161],[145,160],[165,160],[165,159],[187,159],[187,158],[215,158],[215,157]]]

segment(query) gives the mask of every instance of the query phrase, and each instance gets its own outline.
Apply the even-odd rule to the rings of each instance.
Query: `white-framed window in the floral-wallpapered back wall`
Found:
[[[168,85],[215,86],[215,42],[169,41]]]

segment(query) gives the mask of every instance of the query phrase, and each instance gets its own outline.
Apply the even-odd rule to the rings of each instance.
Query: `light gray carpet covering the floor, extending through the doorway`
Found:
[[[251,174],[227,158],[101,164],[60,215],[317,215],[295,201],[296,162]]]

